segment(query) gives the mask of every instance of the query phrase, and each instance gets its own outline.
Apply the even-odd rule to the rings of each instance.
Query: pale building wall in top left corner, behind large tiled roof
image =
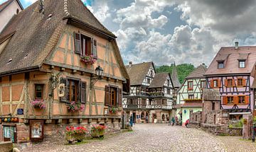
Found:
[[[0,4],[0,33],[11,18],[22,10],[23,6],[19,0],[8,0]]]

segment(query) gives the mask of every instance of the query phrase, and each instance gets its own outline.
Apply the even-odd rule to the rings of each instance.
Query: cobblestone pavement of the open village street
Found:
[[[213,136],[198,129],[167,124],[136,124],[133,129],[87,144],[50,142],[23,151],[256,151],[256,144],[240,140],[240,137]]]

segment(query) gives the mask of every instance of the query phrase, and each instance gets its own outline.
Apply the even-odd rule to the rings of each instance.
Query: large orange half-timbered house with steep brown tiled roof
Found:
[[[41,141],[67,125],[120,129],[122,90],[116,37],[80,0],[37,1],[0,35],[0,141]]]

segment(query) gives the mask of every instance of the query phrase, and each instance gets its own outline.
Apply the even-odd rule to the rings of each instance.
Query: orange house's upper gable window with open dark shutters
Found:
[[[97,57],[97,40],[75,33],[75,53],[81,56],[93,55]]]

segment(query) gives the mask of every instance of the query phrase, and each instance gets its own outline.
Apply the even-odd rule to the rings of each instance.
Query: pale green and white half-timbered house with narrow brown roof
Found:
[[[202,111],[202,89],[206,88],[206,66],[200,65],[189,74],[177,93],[176,115],[185,124],[190,112]]]

